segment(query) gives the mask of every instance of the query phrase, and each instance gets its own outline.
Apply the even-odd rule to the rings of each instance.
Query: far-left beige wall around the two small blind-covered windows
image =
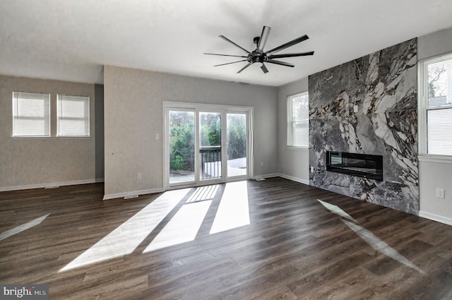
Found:
[[[12,92],[51,93],[49,138],[12,138]],[[57,93],[90,97],[90,138],[56,138]],[[101,113],[101,112],[100,112]],[[0,190],[93,182],[97,177],[95,85],[0,76]],[[42,174],[42,169],[46,169]],[[102,176],[102,173],[98,173]]]

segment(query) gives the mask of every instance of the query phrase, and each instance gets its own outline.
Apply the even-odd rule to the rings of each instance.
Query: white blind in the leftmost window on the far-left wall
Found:
[[[13,92],[13,136],[50,136],[50,95]]]

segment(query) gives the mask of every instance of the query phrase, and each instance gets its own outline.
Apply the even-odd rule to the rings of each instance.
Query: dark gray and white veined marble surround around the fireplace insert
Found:
[[[383,181],[326,171],[326,151],[383,156]],[[309,76],[309,184],[419,212],[417,39]]]

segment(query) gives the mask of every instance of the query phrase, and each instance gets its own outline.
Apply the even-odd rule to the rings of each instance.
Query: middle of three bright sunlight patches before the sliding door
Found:
[[[168,222],[143,253],[194,241],[212,200],[186,203]]]

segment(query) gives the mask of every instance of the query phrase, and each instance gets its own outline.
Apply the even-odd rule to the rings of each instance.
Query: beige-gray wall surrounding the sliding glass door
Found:
[[[254,176],[278,171],[277,88],[117,66],[104,87],[105,198],[162,191],[162,101],[254,107]]]

